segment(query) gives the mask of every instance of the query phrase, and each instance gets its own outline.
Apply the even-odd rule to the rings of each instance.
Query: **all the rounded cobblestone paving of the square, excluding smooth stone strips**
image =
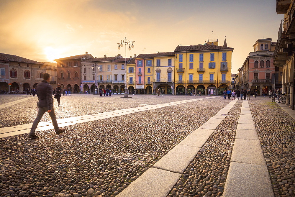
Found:
[[[57,118],[198,98],[130,96],[62,96]],[[31,123],[36,107],[16,111],[36,101],[1,109],[0,117],[8,117],[1,118],[1,127]],[[36,140],[27,134],[0,138],[0,196],[115,196],[230,101],[210,98],[81,123],[61,135],[40,131]],[[230,110],[232,116],[223,119],[168,196],[222,196],[241,104]],[[294,119],[268,98],[249,104],[275,196],[294,196]]]

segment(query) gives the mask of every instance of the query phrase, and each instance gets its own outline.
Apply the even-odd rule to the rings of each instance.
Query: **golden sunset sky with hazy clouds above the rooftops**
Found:
[[[0,53],[40,62],[73,55],[127,57],[204,44],[217,36],[233,47],[232,73],[257,39],[276,42],[276,0],[0,0]]]

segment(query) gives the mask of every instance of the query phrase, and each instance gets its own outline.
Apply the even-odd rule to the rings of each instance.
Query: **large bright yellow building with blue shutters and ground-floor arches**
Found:
[[[218,39],[204,45],[178,45],[174,50],[176,93],[222,94],[230,87],[233,50],[225,39],[223,46],[218,46]]]

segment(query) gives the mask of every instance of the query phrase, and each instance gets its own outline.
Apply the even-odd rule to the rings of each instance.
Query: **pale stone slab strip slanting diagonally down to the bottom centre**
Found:
[[[237,100],[234,100],[227,104],[215,116],[189,134],[117,196],[167,196],[189,163],[196,157],[201,147],[226,117],[222,114],[227,114],[236,102]]]

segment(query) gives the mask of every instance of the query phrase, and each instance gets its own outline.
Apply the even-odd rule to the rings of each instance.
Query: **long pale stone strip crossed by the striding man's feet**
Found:
[[[173,106],[173,105],[189,103],[189,102],[193,102],[193,101],[199,101],[199,100],[215,98],[215,97],[216,96],[206,97],[206,98],[195,98],[195,99],[190,99],[190,100],[175,101],[175,102],[164,103],[164,104],[156,104],[156,105],[148,105],[148,106],[128,108],[128,109],[120,109],[120,110],[108,111],[108,112],[103,112],[103,113],[98,113],[98,114],[75,116],[75,117],[71,117],[71,118],[58,119],[57,122],[58,122],[59,127],[66,127],[66,126],[79,124],[79,123],[83,123],[83,122],[90,122],[90,121],[95,121],[95,120],[100,120],[100,119],[122,116],[122,115],[132,114],[132,113],[139,112],[139,111],[158,109],[158,108],[165,107],[165,106]],[[34,97],[30,97],[30,98],[34,98]],[[27,100],[30,98],[25,98],[25,99]],[[22,101],[24,101],[24,99],[10,102],[10,103],[16,104],[16,102],[19,103]],[[7,104],[9,104],[9,103],[7,103]],[[33,123],[22,124],[22,125],[17,125],[17,126],[12,126],[12,127],[2,127],[2,128],[0,128],[0,138],[24,134],[24,133],[30,133],[30,129],[32,127],[32,124]],[[36,131],[44,131],[44,130],[48,130],[48,129],[54,129],[51,120],[40,122],[38,124]]]

